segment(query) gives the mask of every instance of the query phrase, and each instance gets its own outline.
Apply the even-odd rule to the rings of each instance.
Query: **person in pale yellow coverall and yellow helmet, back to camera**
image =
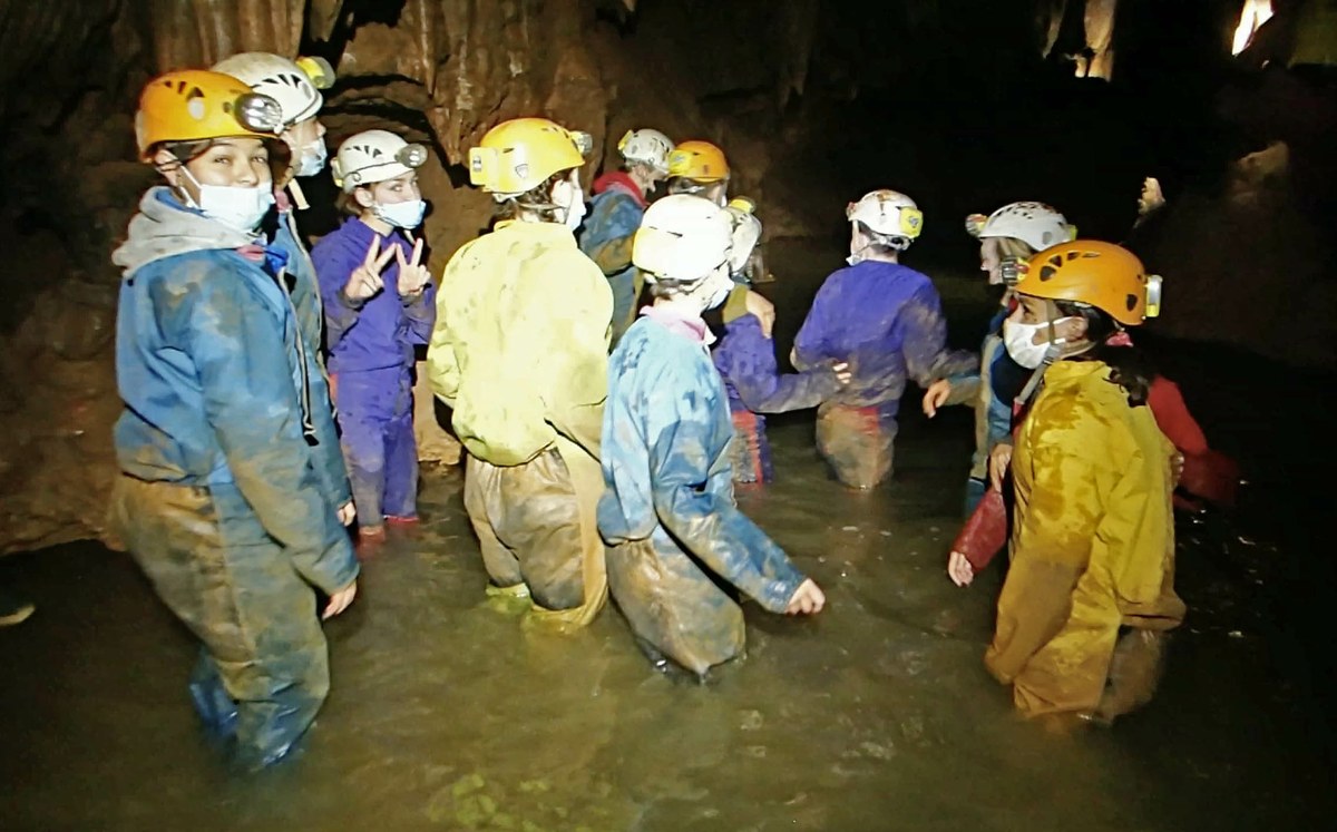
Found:
[[[594,526],[612,293],[576,247],[590,136],[497,124],[469,151],[499,221],[441,277],[429,380],[468,451],[465,508],[491,582],[584,623],[606,595]]]

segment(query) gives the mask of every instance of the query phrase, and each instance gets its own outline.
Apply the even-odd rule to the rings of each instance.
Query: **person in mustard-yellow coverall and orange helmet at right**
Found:
[[[1119,246],[1078,239],[1036,254],[1016,293],[1011,328],[1048,337],[1012,455],[1012,560],[985,663],[1028,716],[1111,720],[1155,682],[1112,673],[1115,655],[1159,658],[1159,634],[1185,614],[1152,372],[1136,348],[1111,344],[1159,312],[1161,278]],[[1008,337],[1008,349],[1025,365],[1035,340]]]

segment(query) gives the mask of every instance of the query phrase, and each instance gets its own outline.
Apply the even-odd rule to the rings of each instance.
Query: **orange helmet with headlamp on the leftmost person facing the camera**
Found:
[[[231,75],[180,70],[159,75],[139,95],[135,140],[139,155],[159,142],[199,142],[225,136],[273,139],[283,130],[278,102],[257,95]]]

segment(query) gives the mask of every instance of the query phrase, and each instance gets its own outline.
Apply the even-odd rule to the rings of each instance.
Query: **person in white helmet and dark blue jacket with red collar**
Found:
[[[628,130],[618,142],[622,170],[594,181],[590,215],[580,226],[580,250],[612,289],[612,344],[631,326],[642,280],[631,265],[631,241],[650,205],[650,191],[668,174],[674,144],[658,130]]]

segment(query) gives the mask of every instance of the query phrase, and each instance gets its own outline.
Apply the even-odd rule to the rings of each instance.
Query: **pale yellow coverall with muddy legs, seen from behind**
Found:
[[[551,575],[575,568],[579,606],[537,618],[584,626],[607,598],[595,507],[612,316],[608,284],[564,226],[501,222],[455,253],[441,277],[441,298],[429,380],[453,409],[455,433],[471,456],[465,508],[489,574],[497,568],[495,582],[509,579],[499,566],[507,548],[520,577],[525,560],[560,560],[560,570],[543,570]],[[551,452],[560,455],[570,486]],[[550,495],[541,511],[525,506],[535,494]],[[520,554],[554,538],[560,548]],[[536,595],[531,587],[531,597],[552,610],[544,602],[566,605],[574,598],[570,587],[555,579]]]

